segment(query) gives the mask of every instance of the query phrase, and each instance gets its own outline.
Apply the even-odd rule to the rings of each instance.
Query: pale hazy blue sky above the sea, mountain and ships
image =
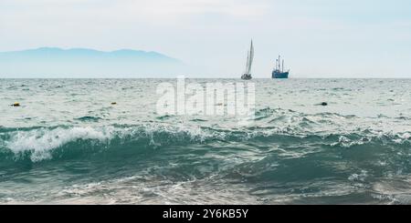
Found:
[[[409,0],[0,0],[0,51],[156,51],[186,76],[411,78]]]

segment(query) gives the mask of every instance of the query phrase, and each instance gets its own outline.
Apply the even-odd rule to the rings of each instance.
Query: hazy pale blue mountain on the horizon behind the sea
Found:
[[[0,77],[164,77],[183,63],[156,52],[41,47],[0,52]]]

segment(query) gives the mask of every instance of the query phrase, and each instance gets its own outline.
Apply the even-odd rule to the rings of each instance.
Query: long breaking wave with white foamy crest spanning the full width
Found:
[[[76,150],[101,152],[127,145],[138,148],[254,142],[263,146],[311,144],[311,146],[356,147],[410,145],[410,133],[379,132],[369,129],[352,133],[301,132],[293,127],[245,127],[231,130],[216,127],[177,127],[167,124],[106,127],[30,127],[0,129],[0,159],[29,159],[39,162]],[[59,150],[58,150],[59,149]],[[90,150],[90,151],[88,151]],[[121,152],[121,151],[119,151]],[[58,155],[57,155],[58,154]]]

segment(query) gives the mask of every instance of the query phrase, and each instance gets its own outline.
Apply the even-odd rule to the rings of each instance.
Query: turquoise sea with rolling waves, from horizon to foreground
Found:
[[[249,126],[166,81],[0,79],[0,203],[411,204],[410,79],[253,80]]]

